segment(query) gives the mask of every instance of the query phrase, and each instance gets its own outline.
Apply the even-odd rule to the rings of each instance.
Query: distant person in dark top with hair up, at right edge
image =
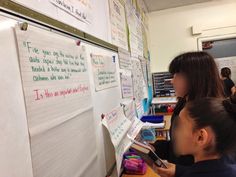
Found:
[[[221,69],[220,74],[221,74],[221,78],[224,83],[225,96],[229,97],[230,95],[232,95],[236,91],[235,84],[230,78],[231,77],[231,70],[228,67],[224,67]]]

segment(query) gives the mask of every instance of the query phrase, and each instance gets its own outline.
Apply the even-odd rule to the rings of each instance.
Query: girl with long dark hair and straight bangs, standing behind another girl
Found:
[[[215,61],[206,52],[189,52],[175,57],[170,63],[169,72],[173,75],[172,83],[178,97],[171,124],[178,119],[180,111],[188,101],[205,97],[224,97]],[[192,165],[192,156],[175,155],[172,142],[172,136],[170,141],[156,141],[156,153],[162,159],[177,164],[177,169],[178,165]]]

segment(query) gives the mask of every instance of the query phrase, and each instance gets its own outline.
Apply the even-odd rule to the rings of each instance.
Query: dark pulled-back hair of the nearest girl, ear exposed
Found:
[[[236,152],[236,95],[230,99],[203,98],[186,105],[195,128],[211,127],[215,133],[215,147],[206,150],[227,155]]]

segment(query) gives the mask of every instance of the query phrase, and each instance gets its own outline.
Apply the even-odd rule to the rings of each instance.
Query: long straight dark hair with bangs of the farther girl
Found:
[[[217,65],[206,52],[188,52],[175,57],[169,65],[169,72],[187,77],[189,101],[205,97],[224,98]]]

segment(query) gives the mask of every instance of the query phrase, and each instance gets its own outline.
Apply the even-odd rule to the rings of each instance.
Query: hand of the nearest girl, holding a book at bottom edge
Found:
[[[156,171],[158,175],[160,175],[161,177],[174,177],[176,165],[173,163],[168,163],[168,162],[165,162],[165,164],[167,168],[156,167]]]

